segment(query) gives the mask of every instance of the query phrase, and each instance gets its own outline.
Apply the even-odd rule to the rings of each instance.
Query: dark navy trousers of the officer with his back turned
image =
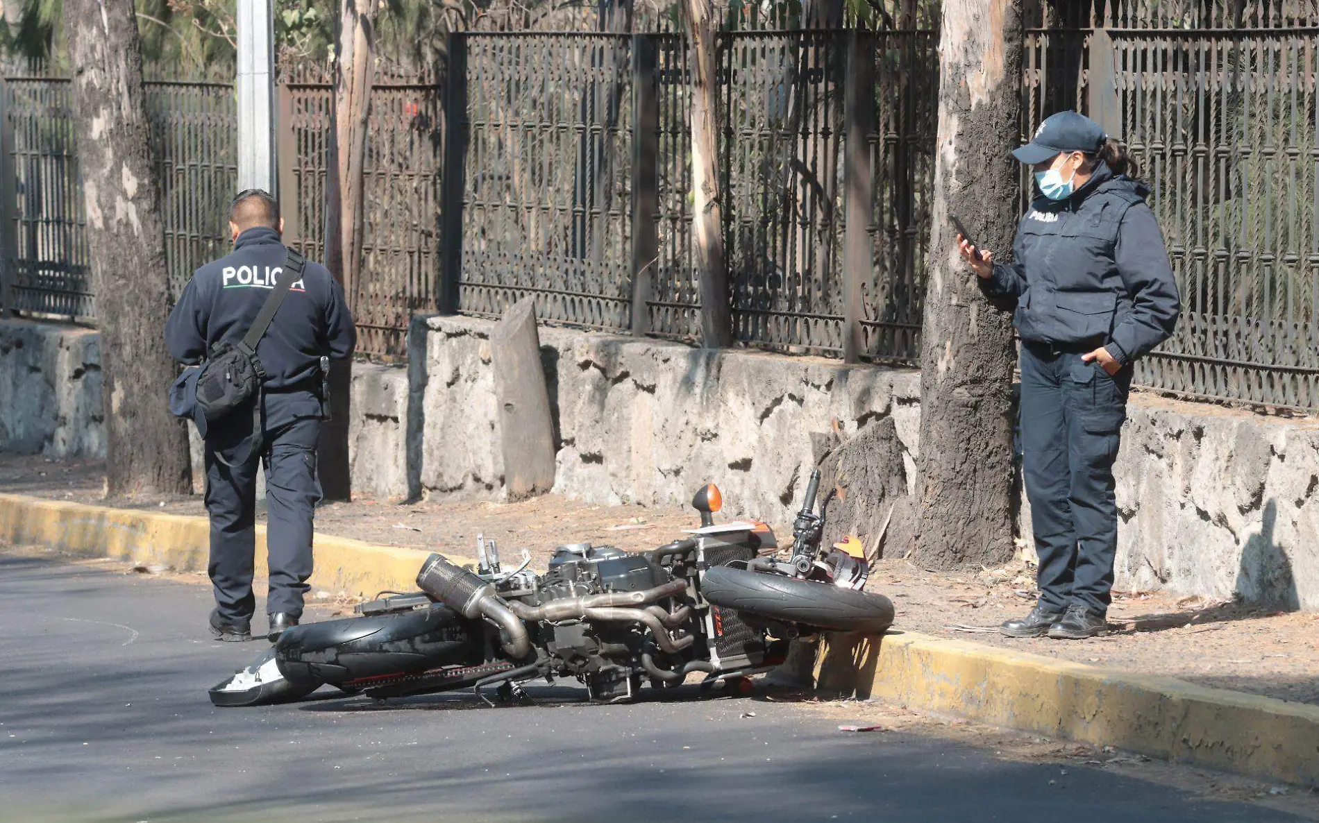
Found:
[[[268,409],[269,412],[269,409]],[[321,501],[317,480],[317,437],[321,421],[294,419],[265,435],[266,553],[270,568],[268,615],[302,615],[311,576],[311,521]],[[206,444],[206,510],[211,516],[211,584],[220,616],[247,620],[256,611],[252,572],[256,559],[256,472],[262,459],[251,455],[230,467],[247,444]]]

